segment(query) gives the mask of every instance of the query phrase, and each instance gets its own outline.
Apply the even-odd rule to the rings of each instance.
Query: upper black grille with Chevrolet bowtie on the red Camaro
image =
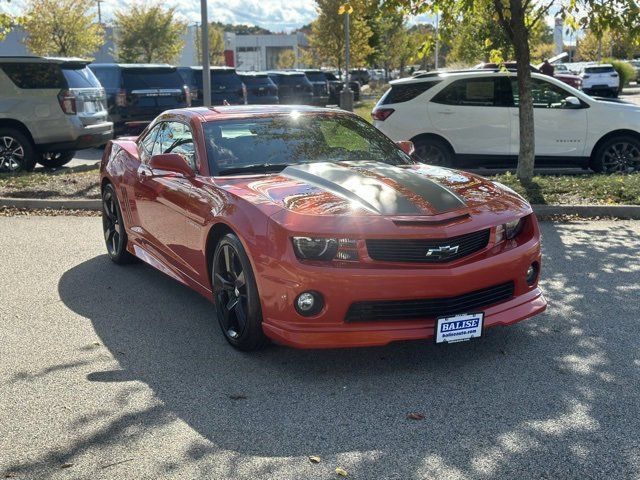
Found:
[[[373,260],[383,262],[443,263],[482,250],[489,243],[490,230],[443,239],[367,240]],[[450,247],[447,249],[447,247]],[[458,247],[455,249],[455,247]],[[456,251],[453,251],[456,250]],[[429,255],[429,251],[431,254]]]

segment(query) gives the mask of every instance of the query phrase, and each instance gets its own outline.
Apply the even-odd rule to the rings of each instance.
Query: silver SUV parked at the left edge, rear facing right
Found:
[[[113,137],[105,91],[87,64],[0,57],[0,172],[60,167]]]

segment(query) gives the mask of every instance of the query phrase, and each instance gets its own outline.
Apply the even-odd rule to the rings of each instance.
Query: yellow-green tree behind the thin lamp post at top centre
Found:
[[[309,55],[321,63],[344,67],[344,16],[338,10],[344,0],[316,0],[318,18],[311,24],[309,35]],[[372,35],[369,25],[364,19],[366,4],[364,0],[351,2],[353,13],[350,15],[351,65],[361,66],[371,54],[369,38]]]

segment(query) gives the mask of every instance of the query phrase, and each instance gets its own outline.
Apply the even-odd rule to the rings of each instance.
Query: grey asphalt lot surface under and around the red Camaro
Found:
[[[640,476],[640,222],[544,222],[547,313],[482,339],[254,354],[99,218],[0,231],[2,477]]]

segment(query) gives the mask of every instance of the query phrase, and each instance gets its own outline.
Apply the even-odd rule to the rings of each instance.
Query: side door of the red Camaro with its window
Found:
[[[149,166],[153,155],[178,153],[192,168],[193,135],[188,125],[178,121],[161,122],[152,145],[140,143],[140,166],[135,184],[136,214],[142,238],[172,267],[186,273],[186,212],[190,204],[191,180],[182,175],[154,172]]]

